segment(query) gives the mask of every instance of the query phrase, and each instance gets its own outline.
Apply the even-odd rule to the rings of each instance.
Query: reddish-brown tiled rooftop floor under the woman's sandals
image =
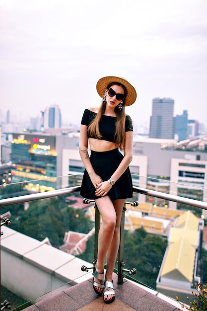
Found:
[[[114,278],[116,280],[116,276]],[[114,282],[116,299],[105,304],[103,297],[96,295],[92,288],[92,278],[70,287],[32,305],[24,311],[175,311],[173,304],[155,296],[124,279],[123,284]]]

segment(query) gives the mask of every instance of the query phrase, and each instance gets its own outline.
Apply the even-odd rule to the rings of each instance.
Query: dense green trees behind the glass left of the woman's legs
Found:
[[[53,246],[59,247],[66,232],[88,233],[92,227],[81,209],[67,207],[59,198],[48,198],[30,202],[29,208],[14,220],[12,229],[40,241],[48,237]]]

